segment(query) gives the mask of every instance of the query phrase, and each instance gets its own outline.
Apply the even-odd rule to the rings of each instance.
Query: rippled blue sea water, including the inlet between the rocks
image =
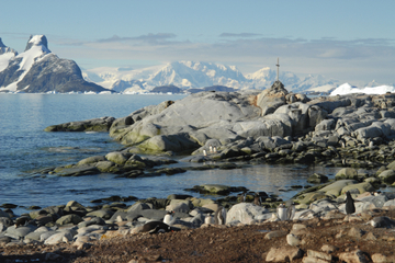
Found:
[[[184,188],[207,183],[246,186],[289,199],[300,191],[291,186],[306,185],[306,179],[314,172],[332,178],[340,170],[262,164],[142,179],[116,179],[114,174],[60,178],[37,173],[45,168],[76,163],[122,148],[106,133],[45,133],[45,127],[102,116],[123,117],[144,106],[182,98],[184,95],[0,93],[0,205],[15,204],[19,207],[14,211],[24,213],[25,207],[32,205],[46,207],[77,201],[88,206],[90,201],[112,195],[138,198],[163,198],[170,194],[201,196]]]

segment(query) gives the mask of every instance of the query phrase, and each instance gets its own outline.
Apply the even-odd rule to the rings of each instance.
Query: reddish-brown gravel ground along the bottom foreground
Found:
[[[395,218],[395,210],[375,210],[373,216]],[[89,249],[77,250],[70,244],[0,247],[0,262],[266,262],[272,247],[287,245],[285,237],[264,239],[267,231],[291,231],[295,221],[269,222],[240,227],[208,226],[206,228],[178,232],[129,235],[93,242]],[[324,244],[335,245],[334,262],[341,252],[357,249],[369,256],[374,253],[395,253],[395,231],[373,228],[361,222],[343,220],[298,221],[307,227],[300,248],[320,251]],[[363,230],[361,238],[350,237],[352,227]],[[343,230],[342,237],[336,237]],[[376,240],[370,240],[372,235]],[[373,238],[373,239],[374,239]],[[38,261],[40,260],[40,261]],[[294,262],[302,262],[296,260]]]

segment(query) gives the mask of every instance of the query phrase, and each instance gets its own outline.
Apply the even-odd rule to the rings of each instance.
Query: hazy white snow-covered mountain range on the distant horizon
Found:
[[[235,66],[202,61],[174,61],[138,70],[97,68],[84,70],[83,77],[117,92],[148,92],[155,87],[176,85],[181,89],[225,85],[235,89],[263,90],[276,80],[276,70],[269,67],[253,73],[242,75]],[[337,81],[323,76],[298,78],[290,71],[280,71],[281,82],[294,92],[327,92]],[[312,90],[313,89],[313,90]],[[317,90],[317,91],[318,91]]]

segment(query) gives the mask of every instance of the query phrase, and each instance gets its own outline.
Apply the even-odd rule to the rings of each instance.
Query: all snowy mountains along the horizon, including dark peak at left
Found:
[[[44,35],[29,38],[18,54],[0,38],[0,92],[120,92],[194,93],[204,90],[263,90],[276,80],[269,67],[242,75],[235,66],[202,61],[174,61],[143,69],[95,68],[82,70],[74,60],[48,49]],[[280,70],[280,80],[293,92],[330,92],[341,83],[323,76],[300,78]],[[369,84],[376,84],[371,82]],[[368,85],[369,85],[368,84]]]

